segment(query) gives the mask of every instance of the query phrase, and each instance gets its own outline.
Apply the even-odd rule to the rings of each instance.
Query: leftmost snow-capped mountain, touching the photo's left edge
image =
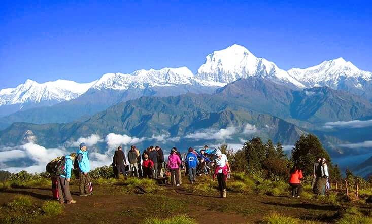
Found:
[[[0,105],[67,101],[85,93],[95,82],[76,83],[69,80],[56,80],[53,82],[38,83],[27,79],[16,88],[0,90]]]

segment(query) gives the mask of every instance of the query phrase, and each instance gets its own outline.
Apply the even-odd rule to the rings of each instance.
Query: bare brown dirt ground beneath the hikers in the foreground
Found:
[[[41,222],[64,223],[69,217],[71,223],[139,223],[146,217],[184,213],[199,223],[257,223],[273,211],[308,220],[322,216],[327,222],[340,209],[288,197],[228,192],[228,197],[221,199],[217,191],[208,195],[171,187],[163,187],[157,194],[127,194],[122,192],[123,188],[125,186],[94,186],[94,195],[79,197],[77,186],[72,186],[77,204],[65,204],[63,215]],[[17,194],[29,195],[40,204],[51,199],[50,189],[9,189],[0,191],[0,203],[11,201]]]

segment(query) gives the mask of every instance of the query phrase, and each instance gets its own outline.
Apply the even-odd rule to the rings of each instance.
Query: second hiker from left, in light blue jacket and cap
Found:
[[[79,180],[80,180],[80,196],[88,196],[91,195],[91,188],[90,188],[90,164],[89,164],[89,157],[88,157],[88,148],[85,143],[81,143],[80,150],[78,151],[78,171],[79,171]]]

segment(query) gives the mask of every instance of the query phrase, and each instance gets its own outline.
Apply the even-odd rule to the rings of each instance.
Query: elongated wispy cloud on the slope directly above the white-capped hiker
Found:
[[[235,127],[228,127],[228,128],[221,128],[220,130],[216,129],[204,129],[199,130],[191,134],[187,134],[185,138],[192,138],[192,139],[216,139],[216,140],[224,140],[224,139],[231,139],[231,135],[236,133]]]

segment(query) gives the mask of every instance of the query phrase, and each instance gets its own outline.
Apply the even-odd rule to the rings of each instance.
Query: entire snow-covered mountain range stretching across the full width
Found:
[[[0,116],[4,114],[1,110],[4,110],[5,106],[8,106],[7,114],[10,114],[29,107],[69,101],[88,90],[122,92],[149,87],[172,87],[172,94],[177,95],[175,87],[177,90],[181,85],[218,88],[239,78],[253,76],[260,76],[291,89],[328,86],[372,99],[372,73],[358,69],[343,58],[324,61],[309,68],[292,68],[286,71],[280,69],[274,62],[257,58],[245,47],[234,44],[207,55],[205,63],[199,67],[196,74],[187,67],[179,67],[141,69],[127,74],[106,73],[97,81],[83,84],[66,80],[40,84],[27,80],[16,88],[0,90]],[[187,91],[193,90],[191,88]]]

